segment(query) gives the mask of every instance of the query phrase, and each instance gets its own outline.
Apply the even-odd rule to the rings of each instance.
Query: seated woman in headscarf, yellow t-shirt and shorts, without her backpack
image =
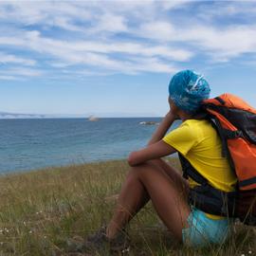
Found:
[[[131,170],[119,193],[114,215],[107,227],[87,238],[82,249],[101,249],[105,244],[113,250],[124,248],[122,230],[149,200],[166,227],[185,245],[204,247],[225,242],[229,235],[228,218],[191,206],[188,194],[195,182],[184,179],[161,159],[178,152],[212,187],[224,192],[234,190],[236,177],[221,155],[220,138],[210,121],[199,117],[200,104],[209,95],[210,86],[203,76],[191,70],[174,75],[169,84],[170,111],[147,147],[129,155]],[[166,135],[175,119],[181,119],[181,125]]]

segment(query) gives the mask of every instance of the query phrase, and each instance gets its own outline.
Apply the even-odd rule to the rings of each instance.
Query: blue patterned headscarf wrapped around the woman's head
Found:
[[[202,75],[183,70],[176,73],[169,83],[169,96],[178,108],[194,114],[201,102],[209,98],[210,86]]]

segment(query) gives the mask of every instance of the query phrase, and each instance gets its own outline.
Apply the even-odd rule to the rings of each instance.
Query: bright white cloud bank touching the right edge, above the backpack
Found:
[[[192,46],[192,55],[200,51],[210,55],[213,61],[229,61],[245,53],[256,53],[256,25],[220,28],[196,24],[181,28],[168,23],[150,23],[142,25],[136,33],[159,43]]]

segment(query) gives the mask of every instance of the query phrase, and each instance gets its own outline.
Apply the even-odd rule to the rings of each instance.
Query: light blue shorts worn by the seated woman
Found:
[[[188,217],[190,228],[182,229],[183,244],[189,247],[220,245],[229,236],[231,222],[228,218],[211,219],[204,211],[192,208],[192,212]]]

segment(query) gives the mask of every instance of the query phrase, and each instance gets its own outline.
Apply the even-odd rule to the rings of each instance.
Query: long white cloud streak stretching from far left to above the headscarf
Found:
[[[166,64],[160,59],[156,61],[157,58],[184,61],[192,57],[190,51],[167,46],[147,46],[134,43],[100,44],[86,41],[68,42],[41,37],[39,31],[29,31],[24,33],[23,36],[19,42],[15,43],[16,46],[27,47],[40,54],[51,55],[55,59],[53,61],[55,67],[86,64],[124,73],[137,72],[139,70],[168,72],[170,64]],[[10,38],[9,40],[11,41]],[[0,37],[0,45],[1,43],[4,45],[6,42],[6,39],[1,39]],[[128,54],[128,56],[124,60],[116,60],[108,56],[108,54],[112,53]],[[151,65],[142,64],[143,66],[139,67],[138,63],[134,64],[131,61],[135,56],[141,59],[144,58],[144,62],[151,63]],[[125,68],[123,68],[123,64],[125,64]],[[155,67],[152,67],[153,64],[155,64]],[[129,67],[127,68],[127,66]],[[148,67],[148,70],[146,67]]]

